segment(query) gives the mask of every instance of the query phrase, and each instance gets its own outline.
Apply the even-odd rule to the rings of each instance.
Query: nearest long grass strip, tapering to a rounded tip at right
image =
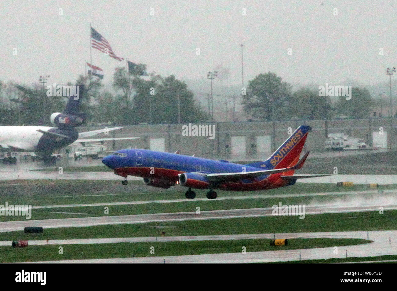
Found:
[[[114,244],[68,244],[63,245],[59,254],[59,245],[27,246],[25,248],[0,247],[0,262],[35,262],[51,260],[79,260],[97,258],[128,258],[148,256],[182,256],[195,254],[218,254],[269,250],[293,250],[302,248],[324,248],[370,243],[363,239],[290,239],[288,246],[270,246],[269,239],[241,239],[229,241],[177,241],[150,243],[114,243]],[[154,254],[150,253],[154,247]],[[153,248],[152,248],[153,249]],[[243,255],[243,254],[242,254]]]

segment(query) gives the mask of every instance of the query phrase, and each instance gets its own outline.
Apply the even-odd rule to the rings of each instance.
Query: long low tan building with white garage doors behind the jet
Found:
[[[327,151],[328,134],[343,133],[364,140],[369,147],[397,147],[396,118],[214,122],[205,124],[144,124],[124,126],[98,137],[139,137],[109,142],[109,149],[142,148],[229,161],[266,159],[301,124],[312,127],[304,150]],[[195,126],[197,126],[195,128]],[[111,127],[111,126],[109,126]],[[80,131],[103,126],[86,126]],[[200,130],[197,130],[197,129]]]

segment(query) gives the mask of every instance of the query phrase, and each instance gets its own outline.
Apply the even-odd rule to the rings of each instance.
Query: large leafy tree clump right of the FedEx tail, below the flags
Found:
[[[116,96],[118,106],[116,123],[165,124],[178,122],[178,97],[181,122],[197,122],[207,119],[198,109],[185,82],[175,76],[163,78],[152,73],[150,80],[141,78],[146,71],[144,64],[135,66],[135,72],[126,76],[124,68],[114,74],[113,85],[121,94]]]

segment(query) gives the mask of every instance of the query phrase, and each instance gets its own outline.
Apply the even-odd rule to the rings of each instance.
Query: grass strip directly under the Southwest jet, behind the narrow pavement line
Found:
[[[381,185],[379,190],[395,189],[397,184]],[[32,206],[105,203],[143,200],[185,199],[187,188],[181,186],[161,189],[146,186],[141,181],[92,180],[13,180],[0,181],[0,204],[30,204]],[[222,196],[280,195],[316,192],[343,192],[369,190],[367,185],[338,187],[336,184],[298,183],[277,189],[255,192],[218,191]],[[376,191],[376,190],[375,190]],[[197,198],[205,198],[206,190],[197,190]],[[216,200],[215,200],[216,201]],[[1,217],[0,217],[1,218]]]

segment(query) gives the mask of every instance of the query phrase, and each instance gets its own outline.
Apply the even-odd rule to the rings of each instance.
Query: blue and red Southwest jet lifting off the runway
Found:
[[[143,177],[146,185],[170,188],[175,184],[188,187],[186,198],[193,199],[195,189],[209,189],[208,199],[218,195],[213,189],[254,191],[295,184],[298,178],[328,175],[295,175],[309,152],[299,159],[310,126],[301,125],[266,161],[240,165],[220,160],[202,159],[146,149],[122,149],[104,157],[102,163],[116,175]]]

